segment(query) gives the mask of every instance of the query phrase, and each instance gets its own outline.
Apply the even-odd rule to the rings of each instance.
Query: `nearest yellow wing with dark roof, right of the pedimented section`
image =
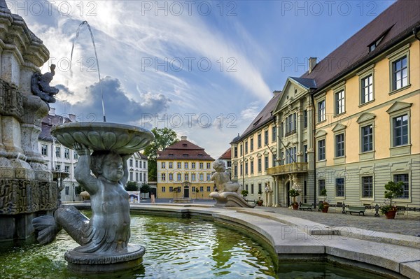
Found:
[[[419,18],[419,3],[397,1],[302,76],[316,84],[316,194],[330,203],[384,203],[393,180],[397,206],[420,205]]]

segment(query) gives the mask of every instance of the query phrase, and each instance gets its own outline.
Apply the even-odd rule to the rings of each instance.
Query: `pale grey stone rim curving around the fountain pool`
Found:
[[[90,203],[66,203],[90,209]],[[272,246],[279,262],[337,262],[391,278],[420,278],[420,238],[353,227],[330,227],[269,208],[216,208],[209,205],[130,203],[132,213],[206,217],[245,229]]]

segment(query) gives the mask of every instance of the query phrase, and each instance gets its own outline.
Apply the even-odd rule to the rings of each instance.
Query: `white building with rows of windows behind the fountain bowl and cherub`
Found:
[[[74,178],[74,168],[78,161],[76,151],[66,148],[58,143],[50,134],[52,127],[58,124],[76,122],[76,115],[69,114],[69,117],[55,115],[55,109],[50,108],[50,113],[42,120],[42,131],[38,137],[38,150],[40,150],[45,165],[50,171],[60,171],[69,173],[69,176],[63,180],[61,193],[62,201],[80,201],[78,197],[78,182]],[[147,157],[140,152],[134,153],[127,161],[129,169],[129,179],[135,181],[141,186],[148,183],[148,162]]]

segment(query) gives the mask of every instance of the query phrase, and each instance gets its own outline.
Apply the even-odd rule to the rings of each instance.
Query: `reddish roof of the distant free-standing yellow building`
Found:
[[[200,148],[200,146],[187,140],[181,140],[174,143],[160,152],[158,160],[162,159],[214,161],[214,159],[204,151],[204,148]]]

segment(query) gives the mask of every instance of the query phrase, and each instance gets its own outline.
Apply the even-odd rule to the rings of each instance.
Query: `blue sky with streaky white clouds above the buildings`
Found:
[[[323,59],[393,1],[6,3],[50,51],[41,72],[57,65],[56,114],[102,121],[103,96],[107,122],[174,129],[217,159],[309,57]],[[86,25],[76,40],[85,20],[99,63]]]

